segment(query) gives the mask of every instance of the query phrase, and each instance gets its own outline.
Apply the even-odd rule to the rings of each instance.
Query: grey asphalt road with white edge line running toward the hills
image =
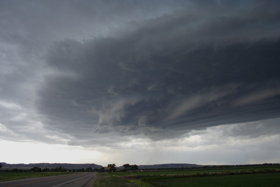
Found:
[[[0,187],[83,187],[96,173],[79,173],[0,182]]]

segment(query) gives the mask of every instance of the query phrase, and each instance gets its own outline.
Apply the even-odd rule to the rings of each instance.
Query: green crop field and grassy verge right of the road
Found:
[[[99,173],[95,186],[279,186],[280,168],[234,168],[218,170],[174,170]],[[116,181],[118,181],[116,183]]]

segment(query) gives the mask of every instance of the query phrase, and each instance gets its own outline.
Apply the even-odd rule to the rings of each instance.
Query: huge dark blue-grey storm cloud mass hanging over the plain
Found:
[[[215,5],[55,42],[46,56],[53,73],[37,92],[45,123],[78,138],[159,140],[279,117],[278,2]]]

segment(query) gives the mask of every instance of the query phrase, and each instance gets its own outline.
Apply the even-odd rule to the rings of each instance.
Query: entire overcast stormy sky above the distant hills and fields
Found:
[[[279,163],[279,7],[0,1],[0,162]]]

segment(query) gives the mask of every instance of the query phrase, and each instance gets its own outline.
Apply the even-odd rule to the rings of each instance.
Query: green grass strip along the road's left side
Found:
[[[6,180],[17,180],[17,179],[25,179],[28,177],[47,177],[47,176],[57,176],[57,175],[69,175],[73,174],[72,172],[0,172],[0,181]]]

